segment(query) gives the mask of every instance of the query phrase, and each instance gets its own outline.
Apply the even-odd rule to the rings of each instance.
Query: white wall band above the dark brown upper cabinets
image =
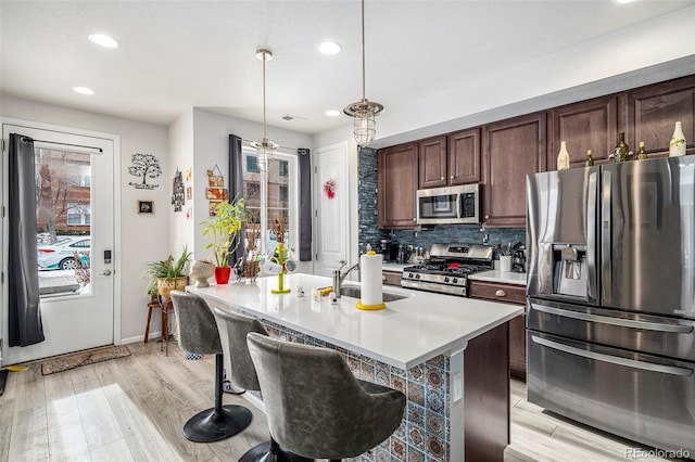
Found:
[[[509,67],[484,80],[470,81],[462,76],[455,88],[416,102],[389,105],[377,117],[375,146],[695,74],[694,25],[695,7],[691,7]],[[379,101],[378,94],[370,97]]]

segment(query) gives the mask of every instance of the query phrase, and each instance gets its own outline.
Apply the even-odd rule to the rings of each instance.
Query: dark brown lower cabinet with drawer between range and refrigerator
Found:
[[[523,285],[470,281],[470,296],[505,304],[526,305]],[[526,382],[526,312],[509,321],[509,375]]]

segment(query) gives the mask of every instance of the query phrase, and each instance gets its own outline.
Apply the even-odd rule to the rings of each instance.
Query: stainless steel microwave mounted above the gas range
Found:
[[[480,185],[433,188],[417,191],[418,224],[480,222]]]

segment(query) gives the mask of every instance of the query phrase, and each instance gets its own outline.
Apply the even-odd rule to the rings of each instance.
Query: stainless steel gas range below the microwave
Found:
[[[407,288],[468,296],[468,274],[493,268],[494,247],[480,244],[432,244],[430,260],[403,269]]]

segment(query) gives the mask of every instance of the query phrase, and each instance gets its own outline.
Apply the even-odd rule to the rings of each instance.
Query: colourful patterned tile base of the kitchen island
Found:
[[[358,458],[359,462],[444,462],[448,448],[448,358],[443,355],[407,371],[349,351],[306,334],[273,322],[263,321],[268,333],[277,338],[338,350],[353,374],[403,392],[407,407],[401,426],[381,445]]]

